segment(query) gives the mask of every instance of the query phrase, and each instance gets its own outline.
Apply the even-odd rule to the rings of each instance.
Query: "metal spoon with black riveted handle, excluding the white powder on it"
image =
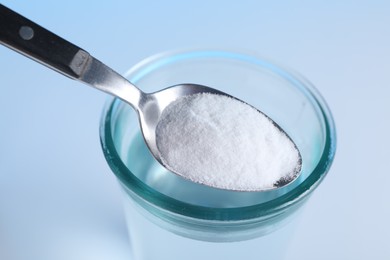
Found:
[[[198,84],[179,84],[154,93],[144,93],[85,50],[1,4],[0,43],[71,79],[130,104],[138,113],[141,131],[149,150],[164,167],[156,142],[156,127],[162,111],[173,101],[187,95],[210,93],[232,97]],[[283,132],[281,128],[279,130]],[[277,186],[292,182],[298,175],[289,180],[281,180]]]

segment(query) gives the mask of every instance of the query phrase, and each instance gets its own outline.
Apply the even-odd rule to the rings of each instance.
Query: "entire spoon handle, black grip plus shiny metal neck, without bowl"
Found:
[[[0,4],[0,43],[138,109],[143,93],[85,50]]]

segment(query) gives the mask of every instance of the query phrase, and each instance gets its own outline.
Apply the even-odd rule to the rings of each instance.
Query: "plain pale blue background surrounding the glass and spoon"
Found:
[[[389,1],[2,1],[119,72],[221,47],[306,76],[335,117],[330,174],[286,259],[390,257]],[[0,259],[129,259],[98,124],[107,96],[0,46]]]

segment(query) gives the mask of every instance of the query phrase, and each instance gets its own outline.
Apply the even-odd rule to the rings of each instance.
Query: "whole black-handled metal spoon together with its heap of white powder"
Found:
[[[145,93],[85,50],[1,4],[0,25],[0,44],[130,104],[153,156],[187,179],[264,190],[288,183],[300,171],[293,142],[243,102],[196,84]]]

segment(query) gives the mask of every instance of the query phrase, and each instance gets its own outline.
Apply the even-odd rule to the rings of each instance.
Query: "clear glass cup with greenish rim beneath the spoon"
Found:
[[[196,184],[154,160],[135,111],[112,99],[100,136],[125,194],[133,259],[280,259],[292,226],[280,227],[324,179],[335,154],[334,122],[314,87],[264,59],[220,50],[163,53],[125,76],[145,92],[197,83],[236,96],[279,124],[302,155],[301,176],[277,190],[235,192]]]

